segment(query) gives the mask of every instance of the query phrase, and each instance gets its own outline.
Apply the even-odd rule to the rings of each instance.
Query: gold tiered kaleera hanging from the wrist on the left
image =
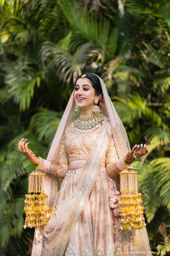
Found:
[[[45,227],[51,217],[51,207],[48,206],[48,196],[44,193],[45,173],[30,173],[28,195],[25,196],[25,225],[24,228]]]

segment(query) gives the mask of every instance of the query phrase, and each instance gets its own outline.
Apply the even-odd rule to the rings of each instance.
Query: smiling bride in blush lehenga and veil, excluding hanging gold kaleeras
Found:
[[[35,231],[32,256],[151,254],[145,225],[122,230],[118,208],[119,173],[148,149],[145,144],[130,149],[100,77],[77,77],[46,160],[26,140],[18,149],[46,172],[45,193],[54,213],[45,228]],[[63,179],[59,191],[58,177]]]

